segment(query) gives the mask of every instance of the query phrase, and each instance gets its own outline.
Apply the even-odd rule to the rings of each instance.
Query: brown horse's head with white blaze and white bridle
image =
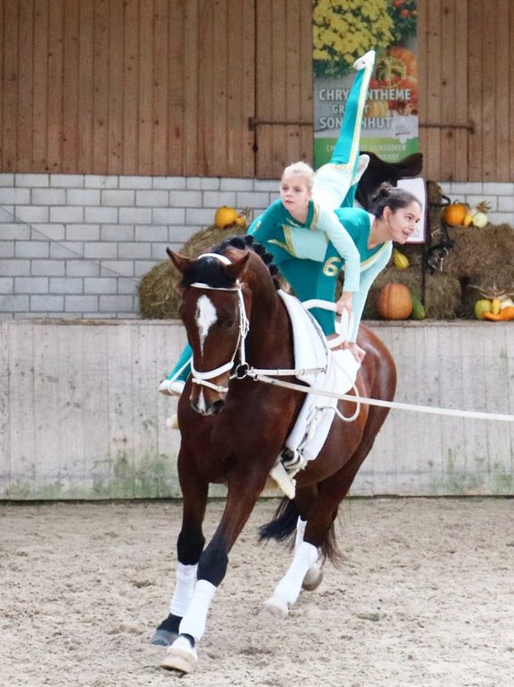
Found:
[[[247,251],[189,258],[167,251],[182,274],[180,318],[193,349],[191,406],[201,415],[220,413],[228,381],[248,326],[241,279],[250,257]]]

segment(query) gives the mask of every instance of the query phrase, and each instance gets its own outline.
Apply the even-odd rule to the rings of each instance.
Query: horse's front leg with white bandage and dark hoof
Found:
[[[209,484],[189,476],[181,479],[181,489],[182,526],[177,540],[175,589],[170,601],[170,614],[158,626],[151,641],[152,644],[165,647],[170,646],[178,638],[180,623],[193,599],[198,561],[205,543],[202,524]]]

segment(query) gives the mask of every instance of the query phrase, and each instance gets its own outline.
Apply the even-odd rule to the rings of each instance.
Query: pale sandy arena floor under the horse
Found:
[[[0,687],[511,687],[514,499],[351,499],[344,564],[290,616],[262,610],[289,553],[233,549],[194,674],[148,641],[167,615],[180,505],[2,505]],[[210,504],[213,532],[223,503]]]

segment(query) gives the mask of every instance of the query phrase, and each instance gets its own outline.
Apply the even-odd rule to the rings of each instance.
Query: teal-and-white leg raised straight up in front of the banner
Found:
[[[330,162],[320,167],[314,176],[314,199],[334,210],[341,205],[353,205],[357,183],[369,163],[368,155],[359,155],[359,151],[369,80],[374,67],[374,50],[353,63],[357,73],[344,106],[339,138]]]

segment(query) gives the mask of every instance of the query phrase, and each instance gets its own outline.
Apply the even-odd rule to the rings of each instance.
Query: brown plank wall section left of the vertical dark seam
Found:
[[[0,0],[4,172],[253,175],[253,0]]]

